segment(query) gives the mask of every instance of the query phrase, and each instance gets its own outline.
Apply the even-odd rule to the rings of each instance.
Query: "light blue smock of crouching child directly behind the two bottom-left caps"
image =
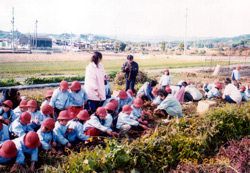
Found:
[[[23,125],[19,118],[17,118],[14,122],[10,124],[9,131],[14,133],[16,136],[20,137],[26,134],[28,131],[34,131],[30,125]]]

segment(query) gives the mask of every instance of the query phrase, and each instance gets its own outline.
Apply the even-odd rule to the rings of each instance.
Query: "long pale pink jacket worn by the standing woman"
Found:
[[[105,71],[101,63],[99,63],[97,67],[94,62],[91,62],[86,67],[84,88],[89,100],[100,101],[100,98],[102,101],[106,100],[104,75]],[[96,89],[98,90],[100,97],[96,96]]]

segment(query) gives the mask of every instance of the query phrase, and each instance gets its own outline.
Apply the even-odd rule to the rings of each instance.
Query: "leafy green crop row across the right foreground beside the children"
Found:
[[[232,139],[250,134],[250,103],[227,104],[204,116],[186,115],[167,126],[159,126],[150,135],[131,143],[106,140],[107,146],[72,152],[60,167],[48,172],[166,172],[175,169],[181,159],[215,156],[219,147]]]

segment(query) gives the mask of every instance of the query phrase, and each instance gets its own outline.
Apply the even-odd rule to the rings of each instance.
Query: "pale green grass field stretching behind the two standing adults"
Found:
[[[106,72],[119,71],[125,60],[104,60],[102,63]],[[202,66],[203,61],[170,58],[138,59],[141,70],[184,68]],[[0,64],[0,77],[22,77],[38,75],[71,74],[83,75],[88,61],[60,61],[60,62],[11,62]]]

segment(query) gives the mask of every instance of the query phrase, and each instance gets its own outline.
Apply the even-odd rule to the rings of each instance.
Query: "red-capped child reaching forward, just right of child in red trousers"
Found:
[[[129,105],[124,105],[122,112],[119,113],[116,128],[119,129],[119,135],[126,134],[131,128],[142,127],[148,129],[147,126],[140,124],[138,121],[130,117],[133,109]]]

